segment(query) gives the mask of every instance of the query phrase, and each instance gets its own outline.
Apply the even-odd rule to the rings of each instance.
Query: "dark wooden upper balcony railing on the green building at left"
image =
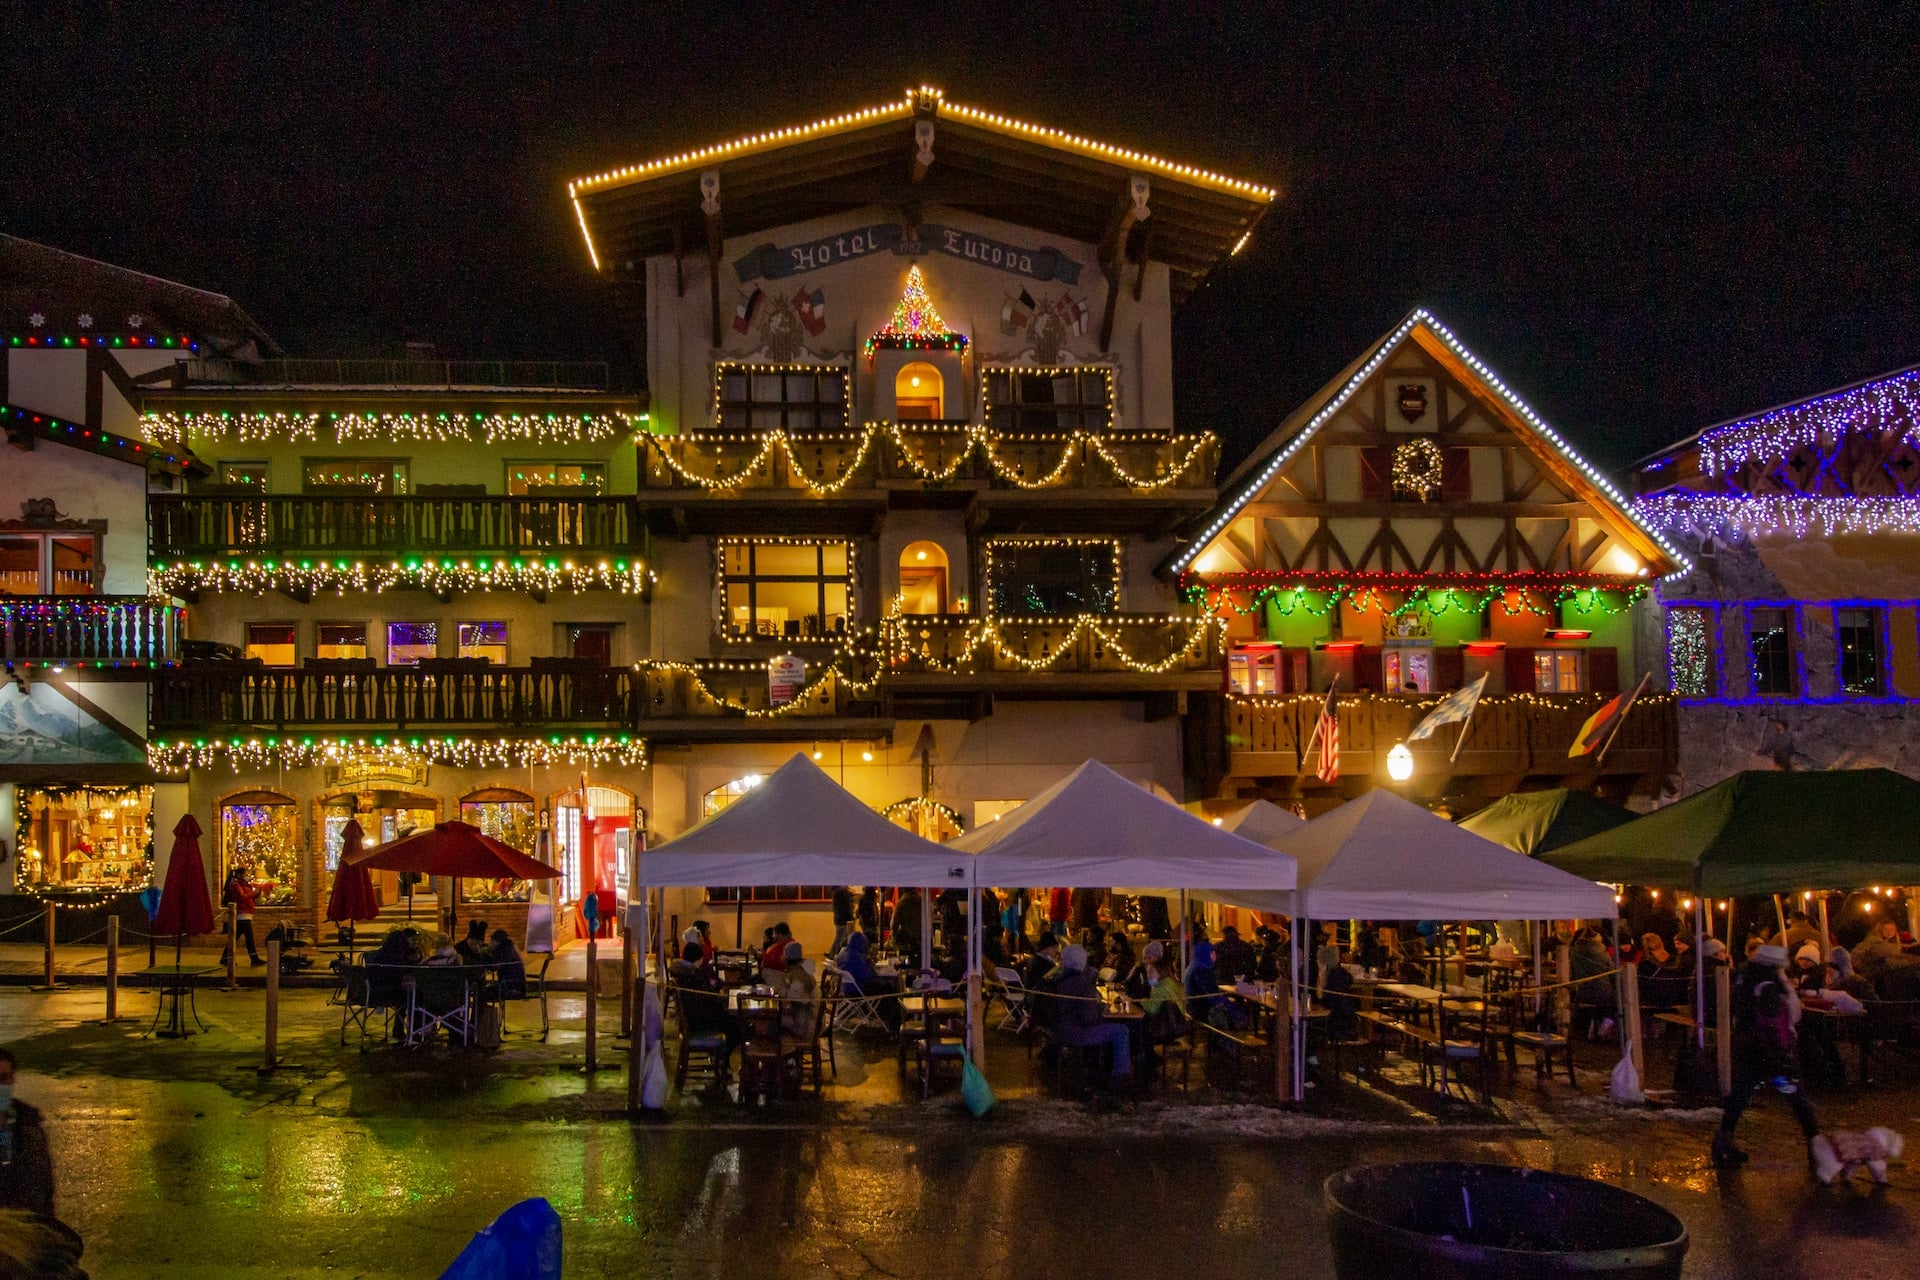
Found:
[[[632,497],[188,495],[148,501],[154,558],[637,553]]]

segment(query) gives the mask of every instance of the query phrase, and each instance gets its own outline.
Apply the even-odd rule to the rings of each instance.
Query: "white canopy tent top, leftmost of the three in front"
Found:
[[[806,756],[639,860],[643,889],[973,883],[972,858],[881,818]]]

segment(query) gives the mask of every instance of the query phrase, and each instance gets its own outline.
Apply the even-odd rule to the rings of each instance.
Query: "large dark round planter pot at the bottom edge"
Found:
[[[1325,1196],[1340,1280],[1678,1280],[1686,1259],[1680,1219],[1644,1196],[1563,1173],[1369,1165],[1327,1178]]]

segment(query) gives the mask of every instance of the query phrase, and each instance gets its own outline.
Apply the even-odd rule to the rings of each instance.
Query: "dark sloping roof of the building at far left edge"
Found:
[[[267,330],[225,294],[6,234],[0,234],[0,334],[46,334],[56,342],[90,334],[188,338],[207,355],[280,355]]]

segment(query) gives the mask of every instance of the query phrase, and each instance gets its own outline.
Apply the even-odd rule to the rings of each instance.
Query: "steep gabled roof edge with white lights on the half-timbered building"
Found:
[[[1523,401],[1515,391],[1500,380],[1490,367],[1486,367],[1480,357],[1467,349],[1467,345],[1453,336],[1446,324],[1442,324],[1425,307],[1413,309],[1407,319],[1404,319],[1392,332],[1388,332],[1380,342],[1369,347],[1359,359],[1340,370],[1327,386],[1323,386],[1315,395],[1290,413],[1271,436],[1267,436],[1260,447],[1242,461],[1233,474],[1227,476],[1227,484],[1221,486],[1227,497],[1208,512],[1206,522],[1188,543],[1175,551],[1160,568],[1167,574],[1181,574],[1192,560],[1206,551],[1240,509],[1254,501],[1261,489],[1267,487],[1275,476],[1279,476],[1286,464],[1294,459],[1313,439],[1315,432],[1331,420],[1348,399],[1367,378],[1375,374],[1388,361],[1388,357],[1400,347],[1404,340],[1417,342],[1428,355],[1432,355],[1442,367],[1448,367],[1453,376],[1469,391],[1478,393],[1482,403],[1494,411],[1494,415],[1503,420],[1515,434],[1530,439],[1538,439],[1551,449],[1542,449],[1540,455],[1549,466],[1549,470],[1565,484],[1572,487],[1586,503],[1611,514],[1619,526],[1632,532],[1638,541],[1644,541],[1647,551],[1657,557],[1667,558],[1676,568],[1692,570],[1692,562],[1667,541],[1663,533],[1645,524],[1636,512],[1632,503],[1607,480],[1592,462],[1580,457],[1572,445],[1569,445],[1559,432],[1546,424],[1546,420],[1532,411],[1526,401]]]

